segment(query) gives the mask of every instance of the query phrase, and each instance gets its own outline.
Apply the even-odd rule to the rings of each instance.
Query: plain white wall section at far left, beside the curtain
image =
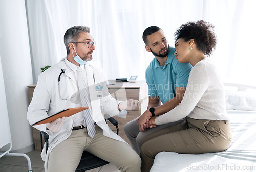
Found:
[[[28,89],[33,84],[25,2],[0,2],[0,56],[11,128],[12,151],[33,150],[32,128],[27,120]],[[1,105],[2,109],[2,105]]]

